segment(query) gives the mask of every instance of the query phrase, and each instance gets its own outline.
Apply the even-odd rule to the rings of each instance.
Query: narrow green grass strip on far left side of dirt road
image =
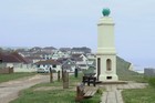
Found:
[[[16,79],[20,79],[20,78],[24,78],[24,76],[31,76],[34,75],[37,73],[11,73],[11,74],[0,74],[0,83],[1,82],[7,82],[7,81],[11,81],[11,80],[16,80]]]

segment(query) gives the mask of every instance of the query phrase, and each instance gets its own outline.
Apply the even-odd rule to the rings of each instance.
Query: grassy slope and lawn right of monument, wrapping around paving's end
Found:
[[[127,70],[128,63],[125,63],[121,59],[117,62],[117,74],[121,80],[132,80],[149,84],[145,89],[123,90],[122,95],[124,103],[155,103],[155,78],[146,78],[143,74]]]

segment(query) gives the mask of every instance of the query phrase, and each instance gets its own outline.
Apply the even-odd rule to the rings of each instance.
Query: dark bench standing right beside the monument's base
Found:
[[[96,85],[96,78],[93,75],[84,75],[82,79],[82,82],[83,82],[83,84],[87,83],[89,86],[91,83],[95,86]]]

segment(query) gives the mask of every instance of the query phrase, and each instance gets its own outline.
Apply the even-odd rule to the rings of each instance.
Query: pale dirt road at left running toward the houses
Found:
[[[56,74],[54,74],[54,78]],[[38,83],[49,82],[49,75],[34,75],[29,78],[23,78],[10,82],[0,83],[0,103],[9,103],[10,101],[18,97],[18,93],[21,90],[28,89]]]

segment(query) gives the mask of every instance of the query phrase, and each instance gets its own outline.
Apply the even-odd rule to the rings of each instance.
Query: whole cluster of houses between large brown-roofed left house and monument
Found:
[[[53,47],[49,48],[32,48],[29,51],[20,50],[19,54],[21,54],[27,60],[31,61],[34,65],[37,65],[37,69],[43,68],[43,69],[50,69],[54,66],[54,61],[60,62],[56,63],[56,68],[52,68],[55,71],[60,70],[60,68],[66,69],[66,62],[71,62],[70,69],[66,69],[68,71],[74,71],[75,68],[79,69],[89,69],[89,66],[95,64],[95,55],[91,54],[91,49],[89,48],[61,48],[55,49]],[[50,61],[50,62],[49,62]],[[65,65],[65,66],[64,66]]]

